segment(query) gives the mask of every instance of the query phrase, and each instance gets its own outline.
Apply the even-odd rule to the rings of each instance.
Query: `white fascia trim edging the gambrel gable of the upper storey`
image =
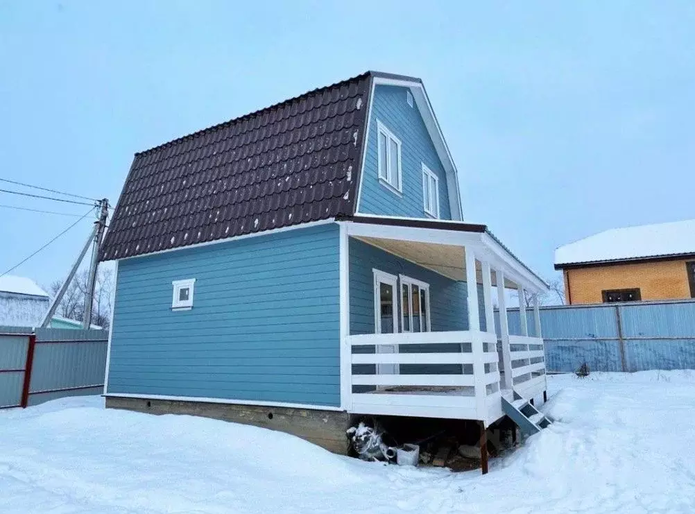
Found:
[[[434,149],[436,149],[437,156],[441,161],[445,172],[446,172],[446,183],[447,190],[449,192],[449,206],[451,210],[451,217],[456,221],[461,221],[463,219],[463,209],[461,208],[461,192],[459,191],[459,172],[456,169],[456,164],[451,156],[451,151],[449,150],[446,140],[444,139],[444,133],[441,131],[439,122],[434,115],[434,109],[432,108],[432,103],[430,103],[430,98],[427,97],[427,92],[425,91],[425,86],[419,81],[407,81],[402,78],[388,78],[375,76],[372,81],[372,90],[369,97],[369,111],[367,117],[367,133],[364,145],[364,151],[362,155],[362,166],[359,192],[357,193],[357,210],[359,213],[359,200],[361,197],[362,190],[362,176],[364,175],[364,160],[366,156],[367,143],[369,138],[369,126],[372,117],[372,105],[374,103],[374,88],[376,85],[395,85],[402,88],[409,88],[410,92],[413,94],[415,103],[418,106],[420,115],[423,117],[423,122],[425,122],[425,127],[427,127],[427,133],[430,134],[430,139],[434,143]]]

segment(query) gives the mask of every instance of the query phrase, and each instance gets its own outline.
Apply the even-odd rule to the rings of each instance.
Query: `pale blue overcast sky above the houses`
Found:
[[[136,151],[367,69],[417,76],[464,218],[552,279],[559,245],[695,218],[694,26],[691,1],[0,0],[0,179],[115,204]],[[1,274],[79,218],[0,220]],[[63,278],[93,221],[12,274]]]

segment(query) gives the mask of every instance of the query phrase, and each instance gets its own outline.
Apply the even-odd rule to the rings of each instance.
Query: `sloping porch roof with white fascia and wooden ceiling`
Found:
[[[477,260],[505,273],[505,287],[521,285],[530,292],[548,289],[548,284],[483,224],[377,215],[340,216],[336,221],[347,224],[348,235],[450,279],[466,280],[468,247]],[[476,278],[482,283],[480,262],[476,265]],[[495,274],[492,283],[496,285]]]

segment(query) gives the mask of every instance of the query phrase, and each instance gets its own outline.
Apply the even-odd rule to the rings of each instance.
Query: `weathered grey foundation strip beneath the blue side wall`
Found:
[[[348,449],[350,414],[342,411],[121,397],[106,397],[106,408],[211,417],[290,433],[335,454],[345,455]]]

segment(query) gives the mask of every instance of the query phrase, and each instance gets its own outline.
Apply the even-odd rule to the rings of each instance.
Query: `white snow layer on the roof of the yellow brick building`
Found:
[[[555,265],[695,254],[695,219],[611,229],[555,250]]]

